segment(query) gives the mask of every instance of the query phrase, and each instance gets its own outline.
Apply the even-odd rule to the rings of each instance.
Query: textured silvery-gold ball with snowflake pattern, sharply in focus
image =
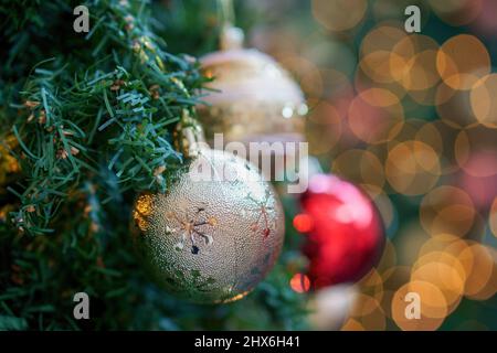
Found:
[[[246,160],[199,146],[194,127],[182,127],[177,138],[190,149],[183,168],[166,193],[142,193],[135,204],[139,253],[157,282],[178,297],[237,300],[281,252],[282,205]]]

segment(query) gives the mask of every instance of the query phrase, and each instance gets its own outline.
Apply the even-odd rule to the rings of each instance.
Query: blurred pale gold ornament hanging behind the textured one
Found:
[[[304,94],[271,56],[243,49],[243,32],[226,25],[221,50],[201,58],[202,69],[215,79],[214,90],[199,105],[209,141],[222,132],[224,142],[303,141],[307,114]]]

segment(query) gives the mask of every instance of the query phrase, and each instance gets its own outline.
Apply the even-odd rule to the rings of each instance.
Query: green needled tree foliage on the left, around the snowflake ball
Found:
[[[0,2],[0,153],[21,168],[0,178],[0,330],[302,328],[289,255],[228,306],[188,304],[147,279],[128,234],[133,201],[165,191],[181,165],[172,129],[204,79],[150,30],[146,1],[86,1],[87,34],[73,31],[77,4]],[[92,320],[73,319],[78,291]]]

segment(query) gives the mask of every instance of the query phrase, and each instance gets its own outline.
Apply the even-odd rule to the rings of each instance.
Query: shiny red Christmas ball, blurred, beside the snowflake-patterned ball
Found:
[[[314,289],[357,281],[379,260],[384,246],[380,215],[356,185],[334,175],[317,174],[300,199],[294,218],[307,233],[304,254]]]

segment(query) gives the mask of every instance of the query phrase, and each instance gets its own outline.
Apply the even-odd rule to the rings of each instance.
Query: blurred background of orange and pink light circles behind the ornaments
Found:
[[[371,196],[387,232],[379,265],[357,286],[309,297],[311,327],[497,329],[497,2],[234,4],[246,46],[276,58],[304,90],[311,154]],[[421,32],[409,34],[404,10],[413,4]],[[216,50],[214,1],[156,6],[173,52]],[[298,210],[287,208],[287,236],[305,236],[292,224]],[[304,274],[288,286],[307,296]],[[395,308],[409,288],[427,317],[415,328]]]

